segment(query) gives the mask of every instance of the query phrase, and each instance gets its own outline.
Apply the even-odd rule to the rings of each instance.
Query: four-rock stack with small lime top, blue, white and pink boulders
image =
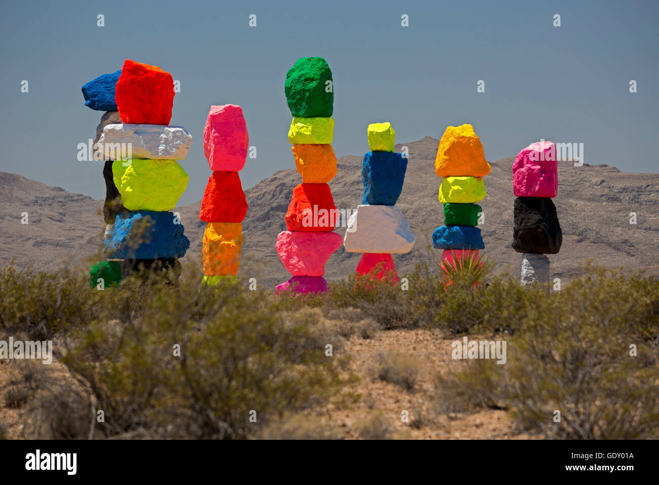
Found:
[[[370,152],[364,155],[362,203],[348,221],[343,246],[351,253],[364,253],[357,276],[398,280],[391,254],[409,253],[415,237],[403,212],[395,203],[403,190],[407,158],[394,153],[395,131],[390,123],[368,125]]]

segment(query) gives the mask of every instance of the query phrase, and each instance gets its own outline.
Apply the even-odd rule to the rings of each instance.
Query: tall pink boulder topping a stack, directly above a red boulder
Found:
[[[249,135],[243,108],[236,104],[211,106],[204,126],[204,154],[213,172],[243,170]]]

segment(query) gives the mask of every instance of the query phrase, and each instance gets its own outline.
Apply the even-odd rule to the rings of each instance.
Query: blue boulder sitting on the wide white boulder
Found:
[[[407,158],[401,153],[368,152],[364,155],[362,205],[395,205],[405,181]]]

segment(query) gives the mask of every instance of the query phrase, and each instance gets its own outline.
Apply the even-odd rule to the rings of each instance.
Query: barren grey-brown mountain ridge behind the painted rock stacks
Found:
[[[438,144],[438,140],[425,137],[396,146],[397,150],[403,145],[409,148],[407,176],[397,207],[416,236],[411,253],[394,255],[399,273],[411,271],[416,262],[440,255],[430,247],[430,234],[444,219],[438,201],[441,179],[434,172]],[[281,156],[288,156],[294,167],[291,152]],[[498,270],[517,274],[521,254],[511,249],[513,161],[514,157],[509,157],[490,162],[492,172],[485,178],[488,195],[480,203],[485,222],[480,228],[485,242],[482,254],[497,261]],[[354,210],[360,203],[361,164],[362,156],[339,158],[339,172],[329,183],[337,209]],[[103,183],[101,166],[99,183]],[[256,277],[266,286],[290,277],[274,246],[277,234],[286,230],[284,214],[298,183],[301,177],[290,168],[275,172],[246,191],[250,207],[243,222],[243,276]],[[563,229],[563,246],[558,255],[549,256],[553,276],[570,278],[588,257],[608,267],[659,274],[658,198],[659,174],[628,174],[606,165],[575,167],[571,162],[559,162],[559,191],[554,203]],[[101,201],[0,172],[0,203],[2,265],[15,257],[20,267],[32,262],[44,269],[56,269],[65,263],[79,263],[101,244],[105,227]],[[191,243],[183,261],[200,258],[206,224],[198,220],[199,208],[200,202],[175,209],[181,212]],[[20,224],[22,212],[28,212],[28,225]],[[629,212],[637,213],[637,225],[629,224]],[[345,227],[336,231],[343,234]],[[353,273],[359,258],[359,254],[347,253],[341,247],[329,259],[326,278]]]

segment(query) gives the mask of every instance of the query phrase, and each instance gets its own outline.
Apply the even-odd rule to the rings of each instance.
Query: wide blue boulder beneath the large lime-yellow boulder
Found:
[[[107,232],[103,253],[114,259],[183,257],[190,241],[173,212],[121,212]]]

